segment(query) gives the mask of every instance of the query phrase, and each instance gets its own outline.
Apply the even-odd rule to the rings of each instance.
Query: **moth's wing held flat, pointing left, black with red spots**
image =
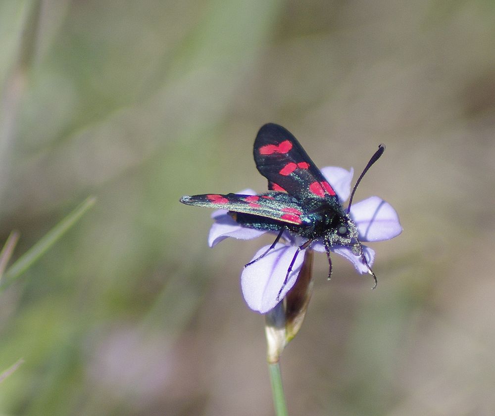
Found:
[[[288,224],[301,224],[303,207],[293,196],[283,192],[267,192],[261,195],[229,193],[185,195],[180,201],[186,205],[226,209],[228,211],[271,218]]]

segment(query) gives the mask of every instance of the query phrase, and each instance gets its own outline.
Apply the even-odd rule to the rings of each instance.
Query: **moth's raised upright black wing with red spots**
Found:
[[[332,186],[284,127],[274,123],[262,126],[254,140],[253,155],[259,173],[268,179],[269,189],[286,191],[300,200],[337,200]]]

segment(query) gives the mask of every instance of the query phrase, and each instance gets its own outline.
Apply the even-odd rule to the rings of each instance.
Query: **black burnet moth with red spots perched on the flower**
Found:
[[[284,127],[268,123],[259,129],[253,146],[254,162],[259,173],[268,180],[268,192],[257,195],[185,195],[180,202],[225,209],[244,227],[278,232],[268,250],[245,267],[272,250],[284,231],[306,239],[292,259],[280,292],[287,283],[299,251],[310,247],[316,240],[322,241],[325,246],[329,263],[328,278],[332,273],[330,248],[348,246],[354,255],[361,257],[374,278],[375,288],[377,278],[367,263],[358,239],[356,224],[350,218],[349,212],[357,185],[384,150],[385,145],[380,144],[354,185],[347,209],[344,209],[332,185],[327,182],[297,139]]]

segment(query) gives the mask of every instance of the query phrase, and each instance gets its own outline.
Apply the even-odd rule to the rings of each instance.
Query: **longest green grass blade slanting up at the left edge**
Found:
[[[4,275],[4,285],[11,283],[22,275],[35,263],[47,250],[68,231],[94,204],[96,198],[90,196],[67,217],[53,227],[40,241],[24,253],[17,261],[8,268]]]

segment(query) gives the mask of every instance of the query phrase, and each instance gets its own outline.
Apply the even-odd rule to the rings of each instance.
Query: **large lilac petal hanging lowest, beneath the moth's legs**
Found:
[[[254,255],[253,260],[263,254],[268,247],[270,246],[261,247]],[[241,288],[249,308],[265,314],[273,309],[294,286],[304,260],[303,250],[297,255],[289,279],[280,293],[279,300],[277,300],[296,251],[297,247],[278,243],[265,256],[243,270]]]

